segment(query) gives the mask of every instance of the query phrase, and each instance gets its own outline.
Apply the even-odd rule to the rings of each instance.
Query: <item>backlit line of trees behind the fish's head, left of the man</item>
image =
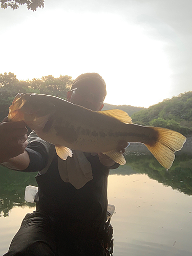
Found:
[[[67,75],[57,78],[49,75],[23,81],[17,80],[16,75],[11,72],[0,74],[0,121],[7,116],[9,106],[17,93],[41,93],[66,99],[72,83],[72,77]]]

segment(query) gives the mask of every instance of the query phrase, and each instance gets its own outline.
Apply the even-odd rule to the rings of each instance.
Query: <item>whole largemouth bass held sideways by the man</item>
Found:
[[[57,155],[66,160],[71,150],[102,152],[125,164],[117,151],[118,142],[139,142],[169,169],[175,152],[186,138],[175,131],[132,123],[121,110],[91,111],[66,100],[44,94],[19,93],[9,108],[9,121],[24,121],[43,140],[55,145]]]

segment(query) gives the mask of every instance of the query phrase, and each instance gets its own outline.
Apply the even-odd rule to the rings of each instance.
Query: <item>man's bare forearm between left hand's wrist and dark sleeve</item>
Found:
[[[2,164],[9,169],[25,170],[29,166],[29,163],[29,154],[27,153],[27,151],[25,151],[23,154],[10,158],[7,162]]]

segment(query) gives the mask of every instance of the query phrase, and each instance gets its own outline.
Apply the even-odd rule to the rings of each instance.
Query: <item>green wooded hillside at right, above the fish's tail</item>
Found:
[[[192,91],[181,93],[172,99],[134,113],[134,123],[159,126],[175,130],[183,135],[192,134]]]

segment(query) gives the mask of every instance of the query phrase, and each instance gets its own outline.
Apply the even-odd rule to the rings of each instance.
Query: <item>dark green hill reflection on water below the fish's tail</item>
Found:
[[[187,195],[192,195],[192,156],[179,155],[173,166],[166,171],[151,155],[126,156],[126,165],[111,170],[110,174],[147,174],[165,186],[170,186]]]

